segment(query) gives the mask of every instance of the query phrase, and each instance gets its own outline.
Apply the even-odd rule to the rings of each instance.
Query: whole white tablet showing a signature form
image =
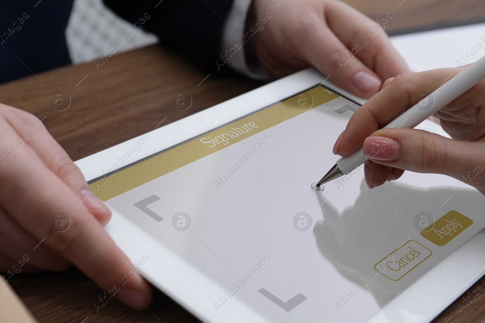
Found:
[[[362,102],[310,68],[76,164],[202,322],[429,322],[485,272],[485,199],[439,174],[369,189],[362,167],[313,191]]]

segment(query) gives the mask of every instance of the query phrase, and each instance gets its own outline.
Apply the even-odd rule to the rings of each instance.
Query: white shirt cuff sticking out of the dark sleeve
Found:
[[[221,55],[218,66],[228,65],[242,75],[254,79],[268,79],[269,76],[259,63],[248,63],[244,54],[244,43],[251,41],[244,37],[246,17],[251,5],[251,0],[234,0],[229,14],[226,17],[226,25],[222,31]],[[229,27],[230,26],[230,27]],[[251,33],[249,33],[251,35]]]

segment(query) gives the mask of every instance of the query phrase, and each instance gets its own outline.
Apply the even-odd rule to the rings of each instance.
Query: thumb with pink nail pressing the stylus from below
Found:
[[[474,178],[485,167],[484,143],[454,140],[417,129],[377,130],[364,140],[363,150],[377,164],[445,174],[466,183],[470,182],[470,174],[474,172]],[[477,187],[480,182],[469,184]]]

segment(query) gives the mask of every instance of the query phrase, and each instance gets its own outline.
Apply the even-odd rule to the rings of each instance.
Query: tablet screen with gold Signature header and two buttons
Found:
[[[363,167],[313,191],[357,108],[317,86],[90,187],[226,289],[214,312],[238,297],[271,322],[363,322],[483,229],[485,203],[437,174],[369,189]]]

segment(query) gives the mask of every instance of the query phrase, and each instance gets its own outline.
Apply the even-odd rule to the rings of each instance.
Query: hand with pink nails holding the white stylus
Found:
[[[386,80],[380,92],[357,109],[336,142],[334,154],[348,156],[358,148],[372,156],[365,165],[367,185],[398,179],[404,170],[440,173],[476,187],[485,195],[485,80],[436,113],[453,138],[407,128],[381,129],[445,81],[473,68],[444,68],[402,74]]]

